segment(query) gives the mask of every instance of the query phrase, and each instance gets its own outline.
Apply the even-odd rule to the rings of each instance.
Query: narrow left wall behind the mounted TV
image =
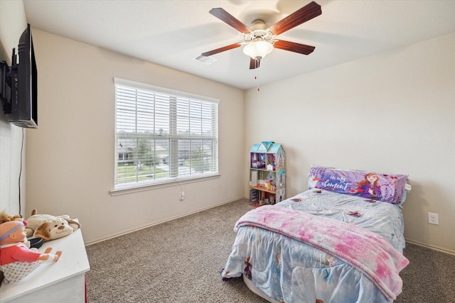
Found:
[[[0,1],[0,61],[11,66],[11,55],[22,32],[27,28],[26,13],[22,1]],[[8,115],[0,105],[0,211],[9,214],[23,213],[26,199],[26,162],[21,157],[22,132],[8,122]],[[24,146],[25,148],[25,146]],[[21,172],[21,158],[23,167]],[[19,207],[19,176],[21,175],[21,207]]]

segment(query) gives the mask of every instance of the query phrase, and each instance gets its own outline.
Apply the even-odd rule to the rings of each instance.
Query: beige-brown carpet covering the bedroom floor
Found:
[[[221,269],[246,199],[87,246],[87,294],[95,302],[266,302]],[[455,256],[408,244],[399,303],[454,302]]]

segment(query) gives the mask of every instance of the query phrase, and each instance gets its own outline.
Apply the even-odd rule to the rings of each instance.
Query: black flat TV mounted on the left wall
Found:
[[[20,127],[38,128],[38,70],[30,24],[19,39],[18,57],[17,68],[13,66],[11,75],[9,121]]]

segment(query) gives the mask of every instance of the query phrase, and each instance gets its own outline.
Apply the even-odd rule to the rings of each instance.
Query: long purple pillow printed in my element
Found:
[[[407,177],[311,165],[308,187],[401,204]]]

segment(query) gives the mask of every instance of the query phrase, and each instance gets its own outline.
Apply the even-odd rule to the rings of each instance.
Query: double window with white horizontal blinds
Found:
[[[218,175],[218,100],[114,83],[115,189]]]

